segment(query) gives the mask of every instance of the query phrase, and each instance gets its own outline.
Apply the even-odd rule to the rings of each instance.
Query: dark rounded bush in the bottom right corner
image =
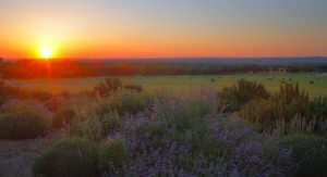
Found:
[[[280,140],[282,147],[292,149],[298,163],[296,176],[327,176],[327,140],[313,135],[292,135]]]

